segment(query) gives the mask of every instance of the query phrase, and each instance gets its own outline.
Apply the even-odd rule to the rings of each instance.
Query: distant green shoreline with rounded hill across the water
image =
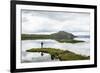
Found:
[[[59,31],[57,33],[53,33],[51,35],[36,35],[36,34],[22,34],[21,39],[22,40],[35,40],[35,39],[54,39],[58,42],[66,42],[66,43],[78,43],[78,42],[84,42],[81,40],[74,40],[74,36],[71,33]]]

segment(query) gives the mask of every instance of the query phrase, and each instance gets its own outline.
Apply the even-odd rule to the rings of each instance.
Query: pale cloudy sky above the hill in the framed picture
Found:
[[[89,34],[90,13],[22,10],[22,34],[51,34],[58,31]]]

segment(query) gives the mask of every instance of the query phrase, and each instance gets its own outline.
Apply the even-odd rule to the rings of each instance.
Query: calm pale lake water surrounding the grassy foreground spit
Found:
[[[22,40],[22,53],[21,62],[46,62],[46,61],[59,61],[58,59],[51,60],[49,54],[30,53],[26,50],[31,48],[41,48],[41,42],[44,42],[44,48],[58,48],[62,50],[69,50],[77,54],[90,56],[90,42],[89,38],[75,38],[77,40],[84,40],[81,43],[59,43],[52,39],[39,39],[39,40]]]

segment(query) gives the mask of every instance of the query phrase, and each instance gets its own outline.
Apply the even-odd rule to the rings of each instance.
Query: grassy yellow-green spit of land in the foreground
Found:
[[[79,54],[75,54],[68,50],[60,50],[55,48],[32,48],[27,50],[27,52],[43,52],[51,55],[51,58],[59,59],[60,61],[68,61],[68,60],[88,60],[89,56],[82,56]]]

